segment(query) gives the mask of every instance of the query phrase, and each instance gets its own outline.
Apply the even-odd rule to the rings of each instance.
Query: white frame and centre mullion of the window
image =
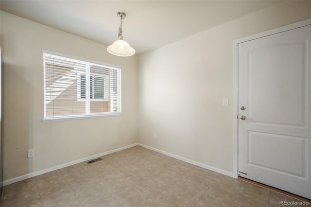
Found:
[[[68,54],[64,54],[64,53],[60,53],[60,52],[53,52],[50,50],[46,50],[43,49],[42,50],[42,55],[43,55],[43,92],[44,92],[44,96],[43,96],[43,105],[44,105],[44,111],[43,111],[43,119],[42,121],[53,121],[53,120],[68,120],[68,119],[84,119],[84,118],[91,118],[91,117],[104,117],[104,116],[119,116],[122,115],[122,110],[121,110],[121,106],[122,106],[122,102],[121,102],[121,67],[120,66],[115,66],[115,65],[111,65],[111,64],[106,64],[106,63],[102,63],[102,62],[98,62],[98,61],[93,61],[93,60],[89,60],[89,59],[85,59],[85,58],[81,58],[81,57],[76,57],[76,56],[72,56],[72,55],[68,55]],[[65,60],[69,60],[69,61],[75,61],[76,63],[84,63],[87,64],[86,71],[85,72],[77,72],[79,74],[79,78],[77,77],[77,101],[85,101],[86,102],[86,114],[81,114],[81,115],[64,115],[64,116],[51,116],[51,117],[47,117],[46,116],[46,55],[51,55],[54,57],[59,57],[61,59],[65,59]],[[87,77],[104,77],[104,79],[109,79],[110,76],[109,75],[104,75],[104,74],[98,74],[98,73],[90,73],[90,66],[99,66],[99,67],[103,67],[105,69],[109,69],[109,70],[117,70],[118,73],[118,79],[117,79],[117,91],[118,91],[118,104],[117,104],[117,111],[111,111],[111,112],[98,112],[98,113],[90,113],[90,102],[91,101],[109,101],[111,100],[111,95],[107,95],[104,93],[104,99],[95,99],[94,97],[91,99],[91,97],[87,98],[87,96],[90,96],[90,91],[87,92],[87,88],[86,88],[86,98],[81,98],[81,75],[86,75]],[[87,74],[88,73],[88,74]],[[80,83],[78,83],[80,82]],[[105,80],[104,80],[104,84],[105,84]],[[79,88],[80,87],[80,88]],[[94,82],[93,82],[93,87],[94,87]],[[89,88],[89,86],[88,86]],[[79,91],[80,90],[80,91]],[[90,90],[90,89],[89,89]],[[105,90],[105,88],[104,88]],[[109,89],[106,89],[109,90]],[[111,89],[110,89],[111,90]],[[79,94],[80,92],[80,94]],[[94,93],[94,92],[93,92]],[[80,95],[80,96],[79,96]],[[79,98],[80,97],[80,98]],[[88,103],[87,103],[88,102]],[[88,105],[88,106],[87,106]],[[112,106],[109,106],[110,108]]]

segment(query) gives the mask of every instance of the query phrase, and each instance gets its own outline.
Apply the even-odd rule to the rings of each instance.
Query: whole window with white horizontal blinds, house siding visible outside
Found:
[[[121,114],[121,69],[44,50],[44,120]]]

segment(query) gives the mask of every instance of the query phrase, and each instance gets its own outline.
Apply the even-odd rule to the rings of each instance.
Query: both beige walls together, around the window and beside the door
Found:
[[[102,44],[1,12],[4,180],[137,141],[232,173],[233,40],[310,17],[311,1],[283,1],[120,58]],[[124,115],[42,122],[42,49],[121,66]],[[35,149],[33,158],[27,149]]]

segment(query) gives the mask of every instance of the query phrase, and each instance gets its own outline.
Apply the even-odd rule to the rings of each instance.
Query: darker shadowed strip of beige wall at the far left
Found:
[[[33,169],[33,157],[27,158],[27,150],[34,147],[35,91],[31,84],[33,76],[29,71],[31,70],[4,63],[4,180],[27,174]]]

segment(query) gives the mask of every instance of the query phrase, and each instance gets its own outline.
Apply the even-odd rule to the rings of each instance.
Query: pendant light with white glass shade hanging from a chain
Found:
[[[131,48],[131,46],[123,40],[122,34],[122,19],[126,17],[124,12],[118,12],[118,17],[121,19],[121,24],[118,30],[119,40],[115,41],[112,45],[107,47],[107,51],[113,55],[127,57],[135,54],[135,50]]]

